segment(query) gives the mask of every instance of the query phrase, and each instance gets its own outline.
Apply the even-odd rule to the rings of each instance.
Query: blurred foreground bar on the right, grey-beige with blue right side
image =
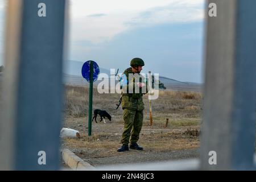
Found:
[[[207,16],[202,169],[253,169],[255,140],[256,1],[216,3]],[[207,11],[208,13],[208,11]],[[217,164],[209,164],[216,151]]]

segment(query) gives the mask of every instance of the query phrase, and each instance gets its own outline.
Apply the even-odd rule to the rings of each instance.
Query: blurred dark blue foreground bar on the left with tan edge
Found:
[[[9,1],[0,169],[59,169],[64,12],[65,0]]]

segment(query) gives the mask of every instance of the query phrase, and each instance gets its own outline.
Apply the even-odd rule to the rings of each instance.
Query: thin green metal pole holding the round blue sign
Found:
[[[93,61],[90,61],[88,136],[92,135]]]

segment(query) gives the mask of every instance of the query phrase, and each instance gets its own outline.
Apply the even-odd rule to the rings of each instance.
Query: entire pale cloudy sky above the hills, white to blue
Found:
[[[141,57],[144,73],[202,82],[204,0],[70,0],[68,7],[65,59],[124,70]]]

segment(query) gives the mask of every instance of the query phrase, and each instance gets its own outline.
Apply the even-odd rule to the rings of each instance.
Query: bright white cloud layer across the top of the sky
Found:
[[[71,41],[98,44],[138,27],[199,21],[203,5],[203,0],[72,1]]]

